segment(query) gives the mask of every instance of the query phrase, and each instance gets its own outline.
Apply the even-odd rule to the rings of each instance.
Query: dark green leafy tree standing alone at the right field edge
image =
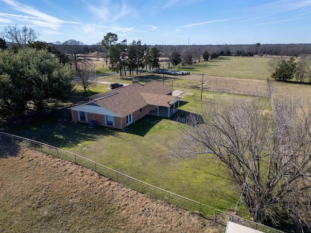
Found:
[[[271,77],[276,81],[285,82],[294,77],[295,71],[295,59],[291,57],[288,61],[283,59],[276,68],[276,71],[272,73]]]

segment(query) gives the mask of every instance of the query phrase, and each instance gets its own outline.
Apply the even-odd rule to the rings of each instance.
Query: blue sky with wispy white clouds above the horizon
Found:
[[[0,32],[86,45],[109,32],[147,45],[311,43],[311,0],[0,0]]]

